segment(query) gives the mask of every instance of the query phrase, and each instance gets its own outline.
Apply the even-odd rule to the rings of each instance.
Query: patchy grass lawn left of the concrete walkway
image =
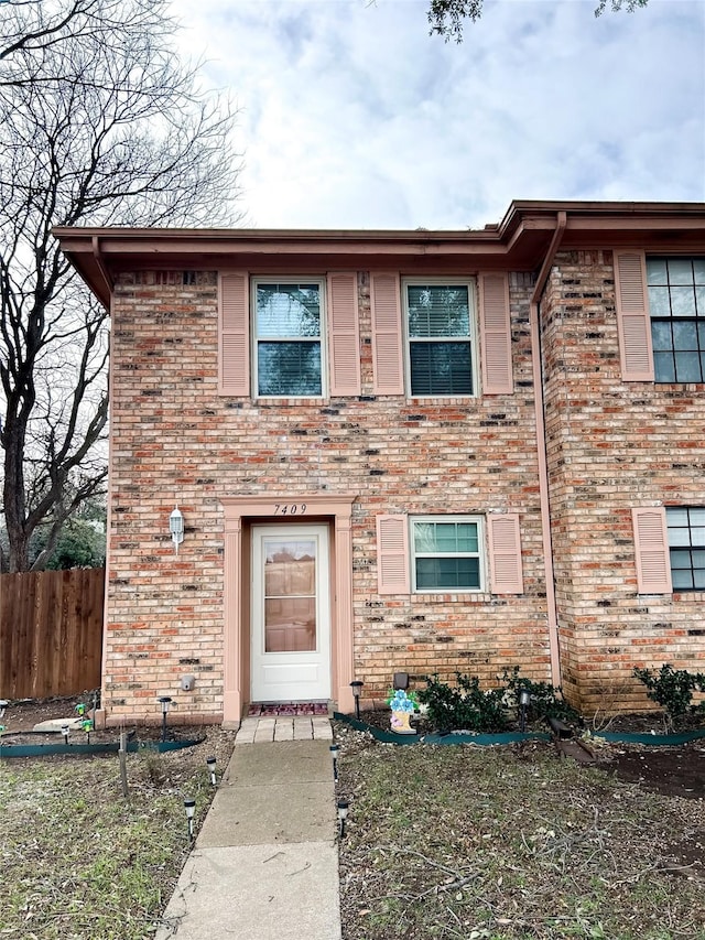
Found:
[[[0,938],[151,937],[189,852],[184,798],[196,825],[213,798],[206,757],[225,770],[232,734],[169,754],[0,760]]]

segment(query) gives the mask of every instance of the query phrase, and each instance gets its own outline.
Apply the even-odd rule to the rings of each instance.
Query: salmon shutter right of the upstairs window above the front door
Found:
[[[330,395],[360,393],[360,333],[357,275],[328,274]]]

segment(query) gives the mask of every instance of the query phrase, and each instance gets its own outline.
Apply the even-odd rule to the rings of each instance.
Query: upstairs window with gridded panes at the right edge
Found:
[[[705,381],[705,258],[647,258],[654,379]]]

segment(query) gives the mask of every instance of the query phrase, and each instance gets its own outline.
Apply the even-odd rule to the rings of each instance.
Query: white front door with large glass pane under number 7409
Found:
[[[251,699],[330,696],[327,526],[252,529]]]

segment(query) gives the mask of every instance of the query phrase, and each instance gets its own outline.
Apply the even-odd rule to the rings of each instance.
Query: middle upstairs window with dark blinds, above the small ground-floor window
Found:
[[[475,395],[474,291],[468,282],[404,281],[409,393]]]

